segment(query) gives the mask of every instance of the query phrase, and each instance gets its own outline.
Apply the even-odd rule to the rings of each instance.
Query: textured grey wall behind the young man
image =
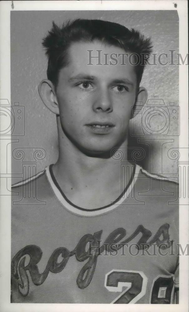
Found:
[[[68,19],[98,18],[118,22],[128,28],[140,30],[153,41],[153,52],[178,53],[179,20],[177,11],[13,11],[11,12],[11,104],[20,102],[25,106],[26,132],[19,137],[18,143],[12,143],[12,150],[17,147],[46,150],[46,157],[38,160],[37,171],[46,165],[56,162],[58,157],[58,141],[56,117],[43,105],[38,95],[38,84],[46,78],[47,59],[42,49],[41,40],[51,28],[54,20],[58,25]],[[79,56],[78,56],[79,59]],[[162,57],[162,62],[165,58]],[[177,60],[175,60],[177,63]],[[148,90],[149,99],[163,99],[165,105],[174,101],[178,105],[178,66],[147,66],[141,85]],[[141,115],[132,121],[130,146],[145,149],[146,156],[139,161],[145,169],[152,173],[177,172],[175,160],[167,157],[167,151],[178,147],[179,127],[178,114],[173,119],[172,109],[170,128],[164,136],[140,137]],[[176,109],[177,110],[177,109]],[[178,111],[178,110],[177,110]],[[153,129],[161,129],[162,119],[158,116],[151,119]],[[140,141],[138,141],[138,138]],[[141,142],[142,141],[142,142]],[[31,149],[28,149],[31,153]],[[29,157],[29,156],[28,156]],[[12,170],[18,173],[21,162],[12,158]],[[13,183],[20,178],[13,179]]]

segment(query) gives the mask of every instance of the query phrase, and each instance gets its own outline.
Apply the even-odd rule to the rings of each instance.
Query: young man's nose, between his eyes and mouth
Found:
[[[95,112],[108,112],[113,111],[111,96],[108,90],[98,90],[93,101],[93,110]]]

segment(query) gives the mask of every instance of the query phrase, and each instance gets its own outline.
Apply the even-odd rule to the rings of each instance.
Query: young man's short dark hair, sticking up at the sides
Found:
[[[145,66],[142,62],[142,55],[145,55],[145,60],[147,60],[152,52],[150,38],[145,38],[133,28],[129,30],[118,23],[102,20],[76,19],[66,22],[62,27],[58,27],[55,22],[52,24],[48,35],[43,38],[42,45],[48,56],[47,78],[51,80],[55,88],[61,68],[69,64],[68,48],[70,45],[74,42],[95,40],[121,47],[124,51],[130,51],[139,57],[135,66],[139,86]]]

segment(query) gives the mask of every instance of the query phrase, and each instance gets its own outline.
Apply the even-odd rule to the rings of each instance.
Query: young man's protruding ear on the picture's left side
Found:
[[[48,79],[40,82],[38,92],[45,106],[54,114],[59,115],[58,101],[54,85]]]

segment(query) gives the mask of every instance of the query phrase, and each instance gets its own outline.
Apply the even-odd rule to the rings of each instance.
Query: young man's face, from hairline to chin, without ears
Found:
[[[89,52],[97,58],[89,59]],[[118,57],[110,65],[112,53],[125,53],[116,46],[99,41],[79,42],[70,46],[69,65],[62,68],[56,89],[61,127],[67,138],[84,153],[109,153],[127,141],[131,106],[136,97],[137,77],[134,66]],[[115,57],[115,56],[113,56]],[[87,65],[89,63],[93,65]],[[112,61],[114,64],[115,61]]]

